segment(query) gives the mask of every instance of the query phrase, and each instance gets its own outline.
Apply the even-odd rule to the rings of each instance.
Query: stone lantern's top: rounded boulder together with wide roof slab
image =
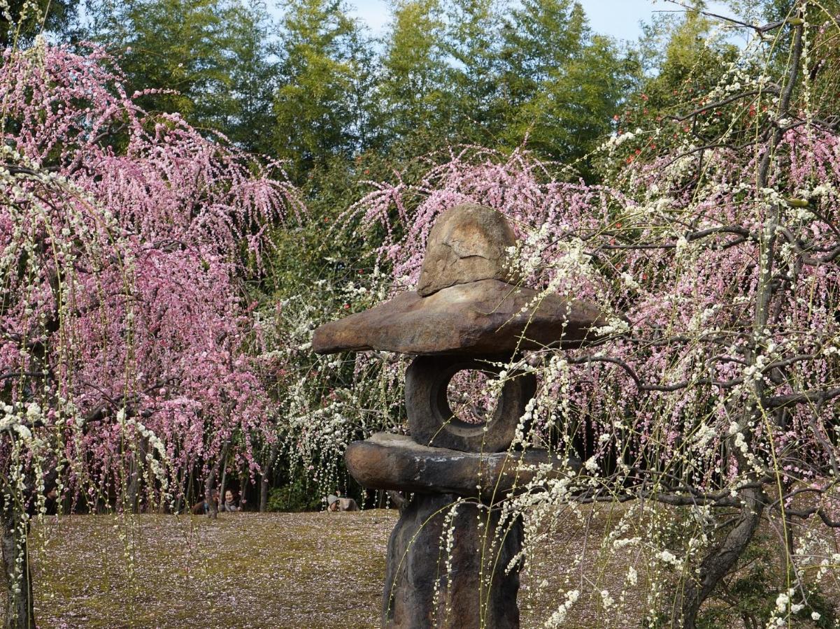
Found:
[[[324,323],[312,349],[487,356],[598,340],[607,322],[597,307],[517,286],[505,261],[515,244],[500,212],[453,207],[432,228],[417,291]]]

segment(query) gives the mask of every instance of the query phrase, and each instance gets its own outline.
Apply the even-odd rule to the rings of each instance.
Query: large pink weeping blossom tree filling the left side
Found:
[[[8,626],[32,626],[29,518],[45,483],[136,510],[259,470],[274,439],[249,358],[266,229],[300,218],[260,166],[134,104],[113,60],[40,42],[0,66],[0,442]],[[207,495],[209,499],[209,495]]]

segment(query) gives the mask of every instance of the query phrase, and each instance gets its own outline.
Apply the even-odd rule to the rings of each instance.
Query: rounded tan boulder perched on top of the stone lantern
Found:
[[[513,229],[501,212],[474,203],[450,208],[429,233],[417,294],[426,297],[478,280],[516,283],[505,264],[507,247],[515,244]]]

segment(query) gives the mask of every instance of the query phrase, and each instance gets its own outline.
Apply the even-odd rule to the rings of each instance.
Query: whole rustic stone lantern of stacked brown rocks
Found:
[[[412,494],[388,543],[384,627],[519,626],[518,563],[509,564],[522,547],[522,522],[503,522],[493,506],[533,478],[528,464],[551,463],[547,451],[511,448],[536,381],[507,374],[495,410],[479,423],[455,416],[449,383],[465,370],[498,375],[494,365],[523,351],[580,347],[606,322],[584,301],[519,286],[506,265],[515,244],[500,212],[453,207],[429,235],[417,291],[326,323],[312,338],[319,354],[416,356],[406,373],[411,436],[378,433],[345,454],[361,485]]]

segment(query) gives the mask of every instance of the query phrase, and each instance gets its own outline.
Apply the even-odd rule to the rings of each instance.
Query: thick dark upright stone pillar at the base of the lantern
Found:
[[[519,566],[507,574],[506,569],[522,548],[522,521],[499,522],[499,511],[461,503],[446,522],[454,500],[454,495],[415,494],[402,511],[388,542],[382,626],[519,626]]]

